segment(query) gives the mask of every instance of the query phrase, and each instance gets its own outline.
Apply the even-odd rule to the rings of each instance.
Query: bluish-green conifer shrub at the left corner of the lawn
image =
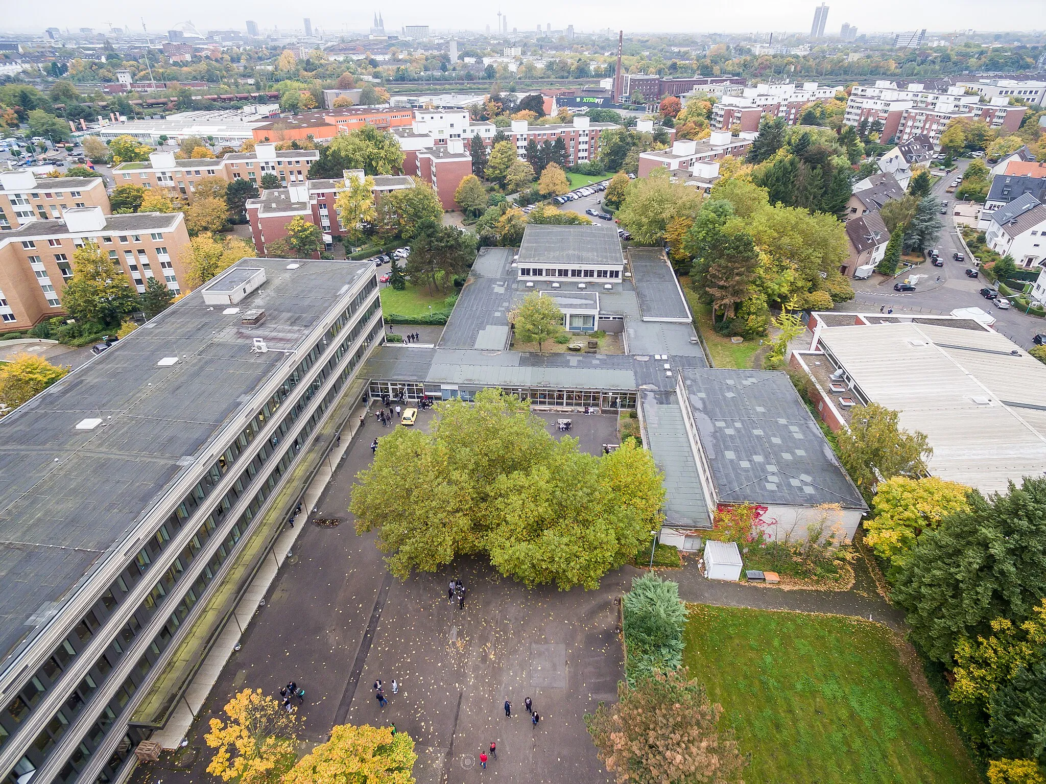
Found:
[[[630,684],[655,671],[673,672],[683,663],[683,627],[686,605],[679,600],[679,584],[645,574],[632,580],[622,600],[626,675]]]

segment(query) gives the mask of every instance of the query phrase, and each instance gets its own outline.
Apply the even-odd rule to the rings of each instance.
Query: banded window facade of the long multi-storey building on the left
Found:
[[[89,764],[99,745],[109,736],[109,730],[117,717],[149,676],[154,664],[169,646],[182,621],[189,615],[207,587],[223,572],[223,564],[235,551],[241,538],[251,529],[252,521],[262,511],[266,500],[287,469],[296,461],[309,435],[323,420],[325,412],[337,400],[345,382],[362,362],[369,347],[380,339],[383,327],[379,318],[381,303],[373,297],[376,290],[377,281],[371,278],[365,289],[331,325],[323,338],[305,353],[279,389],[255,413],[250,423],[207,468],[203,478],[183,498],[174,512],[131,558],[92,609],[77,622],[72,632],[16,696],[8,700],[5,708],[0,710],[0,746],[2,746],[15,737],[45,692],[52,688],[68,689],[69,692],[62,708],[53,713],[44,729],[30,742],[20,763],[23,773],[18,774],[19,767],[16,766],[0,779],[2,784],[14,784],[26,769],[38,769],[81,714],[87,710],[97,710],[94,702],[96,692],[108,684],[110,673],[122,663],[123,656],[133,650],[139,658],[131,674],[117,689],[116,694],[107,701],[101,714],[82,738],[76,752],[70,757],[56,781],[74,781],[75,774]],[[371,299],[373,301],[369,301]],[[361,308],[364,308],[362,313]],[[346,331],[349,324],[351,328]],[[349,361],[338,371],[345,355],[361,336],[365,336],[363,341]],[[339,340],[336,341],[335,338]],[[335,346],[333,350],[328,348],[331,345]],[[308,385],[302,386],[303,378],[324,353],[327,354],[327,359],[323,366]],[[316,395],[324,388],[327,391],[317,403]],[[312,411],[312,414],[303,423],[299,422],[308,411]],[[278,424],[274,424],[276,421]],[[257,444],[256,441],[263,431],[265,440]],[[212,501],[210,498],[212,491],[233,468],[238,470],[238,476],[219,500]],[[241,505],[245,495],[250,497],[250,502],[235,522],[230,522],[227,513],[233,507]],[[206,516],[201,518],[200,515],[204,511],[207,512]],[[189,524],[195,527],[195,532],[186,539],[182,530]],[[181,543],[181,549],[172,558],[168,550],[175,539]],[[215,539],[219,540],[217,546]],[[139,601],[128,620],[118,627],[105,629],[111,637],[105,652],[97,655],[87,674],[78,683],[75,685],[64,683],[66,670],[85,652],[86,647],[103,630],[104,624],[130,598],[129,595],[135,591],[137,584],[146,578],[154,580],[153,587]],[[175,597],[178,597],[177,600]],[[140,635],[161,610],[168,614],[167,620],[141,652]],[[133,743],[139,739],[131,738]],[[129,754],[130,751],[121,755],[120,765],[128,759]],[[107,763],[106,769],[111,767],[111,762]]]

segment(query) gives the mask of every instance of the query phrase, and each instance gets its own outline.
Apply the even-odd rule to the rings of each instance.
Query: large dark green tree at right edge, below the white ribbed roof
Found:
[[[946,664],[958,638],[986,633],[998,618],[1019,624],[1046,597],[1046,479],[967,500],[916,539],[892,594],[912,639]]]

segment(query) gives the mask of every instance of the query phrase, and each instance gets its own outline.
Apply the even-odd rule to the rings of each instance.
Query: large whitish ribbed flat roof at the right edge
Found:
[[[869,400],[925,433],[930,471],[983,492],[1046,470],[1046,365],[991,330],[824,327],[819,345]]]

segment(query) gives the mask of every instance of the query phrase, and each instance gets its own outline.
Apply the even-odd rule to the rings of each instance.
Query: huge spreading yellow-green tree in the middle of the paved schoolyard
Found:
[[[650,453],[578,452],[501,390],[436,403],[430,431],[381,438],[353,488],[357,530],[378,529],[401,578],[485,555],[528,585],[594,589],[660,524],[664,489]]]

